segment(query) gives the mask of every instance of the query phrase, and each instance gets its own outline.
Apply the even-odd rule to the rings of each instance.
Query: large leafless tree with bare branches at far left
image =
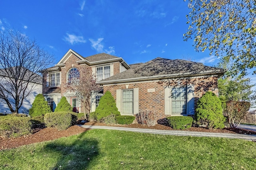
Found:
[[[53,56],[20,31],[0,31],[0,101],[18,113],[24,98],[42,83],[40,70],[52,63]],[[35,83],[36,82],[36,83]]]

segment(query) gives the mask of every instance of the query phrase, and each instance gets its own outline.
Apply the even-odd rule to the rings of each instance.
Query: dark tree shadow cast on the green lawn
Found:
[[[84,170],[98,155],[98,141],[86,138],[86,132],[73,136],[70,142],[57,140],[44,147],[45,152],[57,157],[52,170]],[[73,142],[72,142],[73,141]]]

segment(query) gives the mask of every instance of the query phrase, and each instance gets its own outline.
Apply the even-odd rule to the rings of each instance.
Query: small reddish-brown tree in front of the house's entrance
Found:
[[[76,94],[82,103],[84,117],[88,119],[87,113],[90,113],[91,104],[101,87],[96,83],[96,76],[92,75],[90,67],[79,68],[79,71],[81,72],[80,77],[68,83],[67,87]]]

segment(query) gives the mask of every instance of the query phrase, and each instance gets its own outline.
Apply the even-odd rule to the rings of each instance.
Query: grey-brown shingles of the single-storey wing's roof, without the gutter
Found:
[[[101,82],[123,79],[147,78],[150,76],[164,76],[171,74],[202,74],[203,72],[220,72],[224,69],[205,66],[202,63],[156,58],[146,63],[131,64],[131,69],[111,76]]]

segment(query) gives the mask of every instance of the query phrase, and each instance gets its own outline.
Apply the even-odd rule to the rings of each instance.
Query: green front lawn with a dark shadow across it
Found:
[[[256,169],[256,143],[93,129],[0,152],[0,169]]]

